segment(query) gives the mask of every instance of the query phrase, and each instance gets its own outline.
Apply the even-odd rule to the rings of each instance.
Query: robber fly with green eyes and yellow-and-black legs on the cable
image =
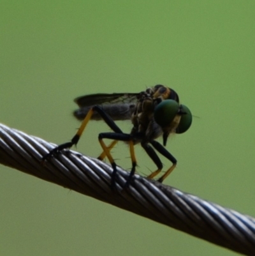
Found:
[[[185,105],[179,103],[179,96],[173,89],[157,85],[141,93],[89,94],[76,98],[75,102],[80,109],[75,110],[73,114],[77,119],[82,120],[78,132],[70,142],[55,147],[50,153],[43,156],[43,160],[62,149],[77,144],[90,119],[103,119],[113,132],[99,133],[99,143],[103,148],[99,159],[103,160],[107,157],[112,165],[112,186],[115,185],[117,169],[110,151],[119,140],[129,144],[132,169],[128,183],[136,169],[135,144],[141,144],[157,166],[157,170],[148,176],[150,179],[157,176],[163,169],[163,164],[156,151],[172,163],[171,167],[158,179],[159,182],[162,182],[175,169],[177,160],[164,146],[166,146],[170,133],[184,133],[189,129],[192,115]],[[114,122],[117,120],[131,120],[133,124],[131,132],[123,133]],[[163,136],[163,145],[155,140],[160,136]],[[113,141],[106,146],[103,139],[112,139]]]

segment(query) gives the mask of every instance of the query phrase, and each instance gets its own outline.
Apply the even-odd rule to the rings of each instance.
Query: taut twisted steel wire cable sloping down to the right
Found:
[[[117,190],[110,188],[112,167],[64,150],[41,158],[55,144],[0,124],[0,163],[245,255],[255,255],[255,219],[117,168]],[[124,188],[124,189],[123,189]]]

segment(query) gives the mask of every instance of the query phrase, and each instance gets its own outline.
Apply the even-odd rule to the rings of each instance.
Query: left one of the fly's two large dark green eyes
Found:
[[[180,105],[175,100],[163,100],[154,109],[154,119],[160,126],[168,126],[179,112]]]

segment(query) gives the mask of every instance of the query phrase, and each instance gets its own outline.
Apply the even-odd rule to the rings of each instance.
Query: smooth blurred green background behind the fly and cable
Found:
[[[168,141],[179,163],[165,183],[255,216],[254,13],[254,1],[234,0],[1,1],[0,121],[61,143],[79,125],[73,98],[164,84],[197,116]],[[77,150],[98,156],[98,133],[108,130],[89,123]],[[155,169],[140,146],[136,155],[138,173]],[[130,167],[124,144],[113,156]],[[235,254],[17,170],[0,172],[0,255]]]

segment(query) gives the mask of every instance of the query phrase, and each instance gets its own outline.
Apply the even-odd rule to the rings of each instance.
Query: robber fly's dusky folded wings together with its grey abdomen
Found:
[[[91,107],[98,105],[112,117],[114,121],[131,119],[135,110],[138,93],[98,93],[80,96],[75,99],[75,103],[80,107],[73,112],[77,119],[82,120],[87,115]],[[101,116],[94,113],[92,118],[101,120]]]

